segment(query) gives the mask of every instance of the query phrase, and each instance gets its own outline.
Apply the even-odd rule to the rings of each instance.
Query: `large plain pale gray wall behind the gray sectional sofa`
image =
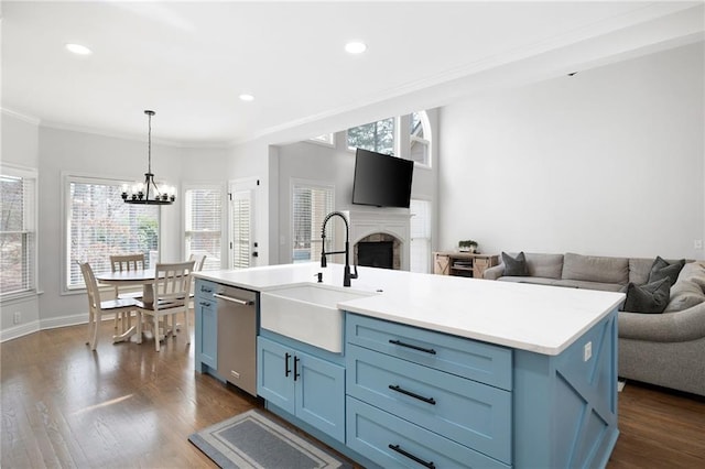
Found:
[[[443,108],[440,247],[704,259],[703,53]]]

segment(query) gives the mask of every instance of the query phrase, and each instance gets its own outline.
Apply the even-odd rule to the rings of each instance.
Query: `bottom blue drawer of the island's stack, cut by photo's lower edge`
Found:
[[[347,446],[381,467],[510,467],[355,397],[347,397],[346,408]]]

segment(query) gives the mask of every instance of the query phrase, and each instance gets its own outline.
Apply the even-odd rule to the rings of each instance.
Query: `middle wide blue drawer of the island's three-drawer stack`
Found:
[[[358,346],[347,394],[511,463],[511,393]]]

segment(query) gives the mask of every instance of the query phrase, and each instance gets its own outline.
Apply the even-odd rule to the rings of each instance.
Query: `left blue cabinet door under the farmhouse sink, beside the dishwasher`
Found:
[[[263,337],[257,338],[257,393],[294,414],[294,352]]]

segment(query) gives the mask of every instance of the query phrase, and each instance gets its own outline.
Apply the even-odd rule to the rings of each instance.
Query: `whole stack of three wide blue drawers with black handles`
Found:
[[[347,440],[382,467],[510,467],[512,351],[348,314]]]

